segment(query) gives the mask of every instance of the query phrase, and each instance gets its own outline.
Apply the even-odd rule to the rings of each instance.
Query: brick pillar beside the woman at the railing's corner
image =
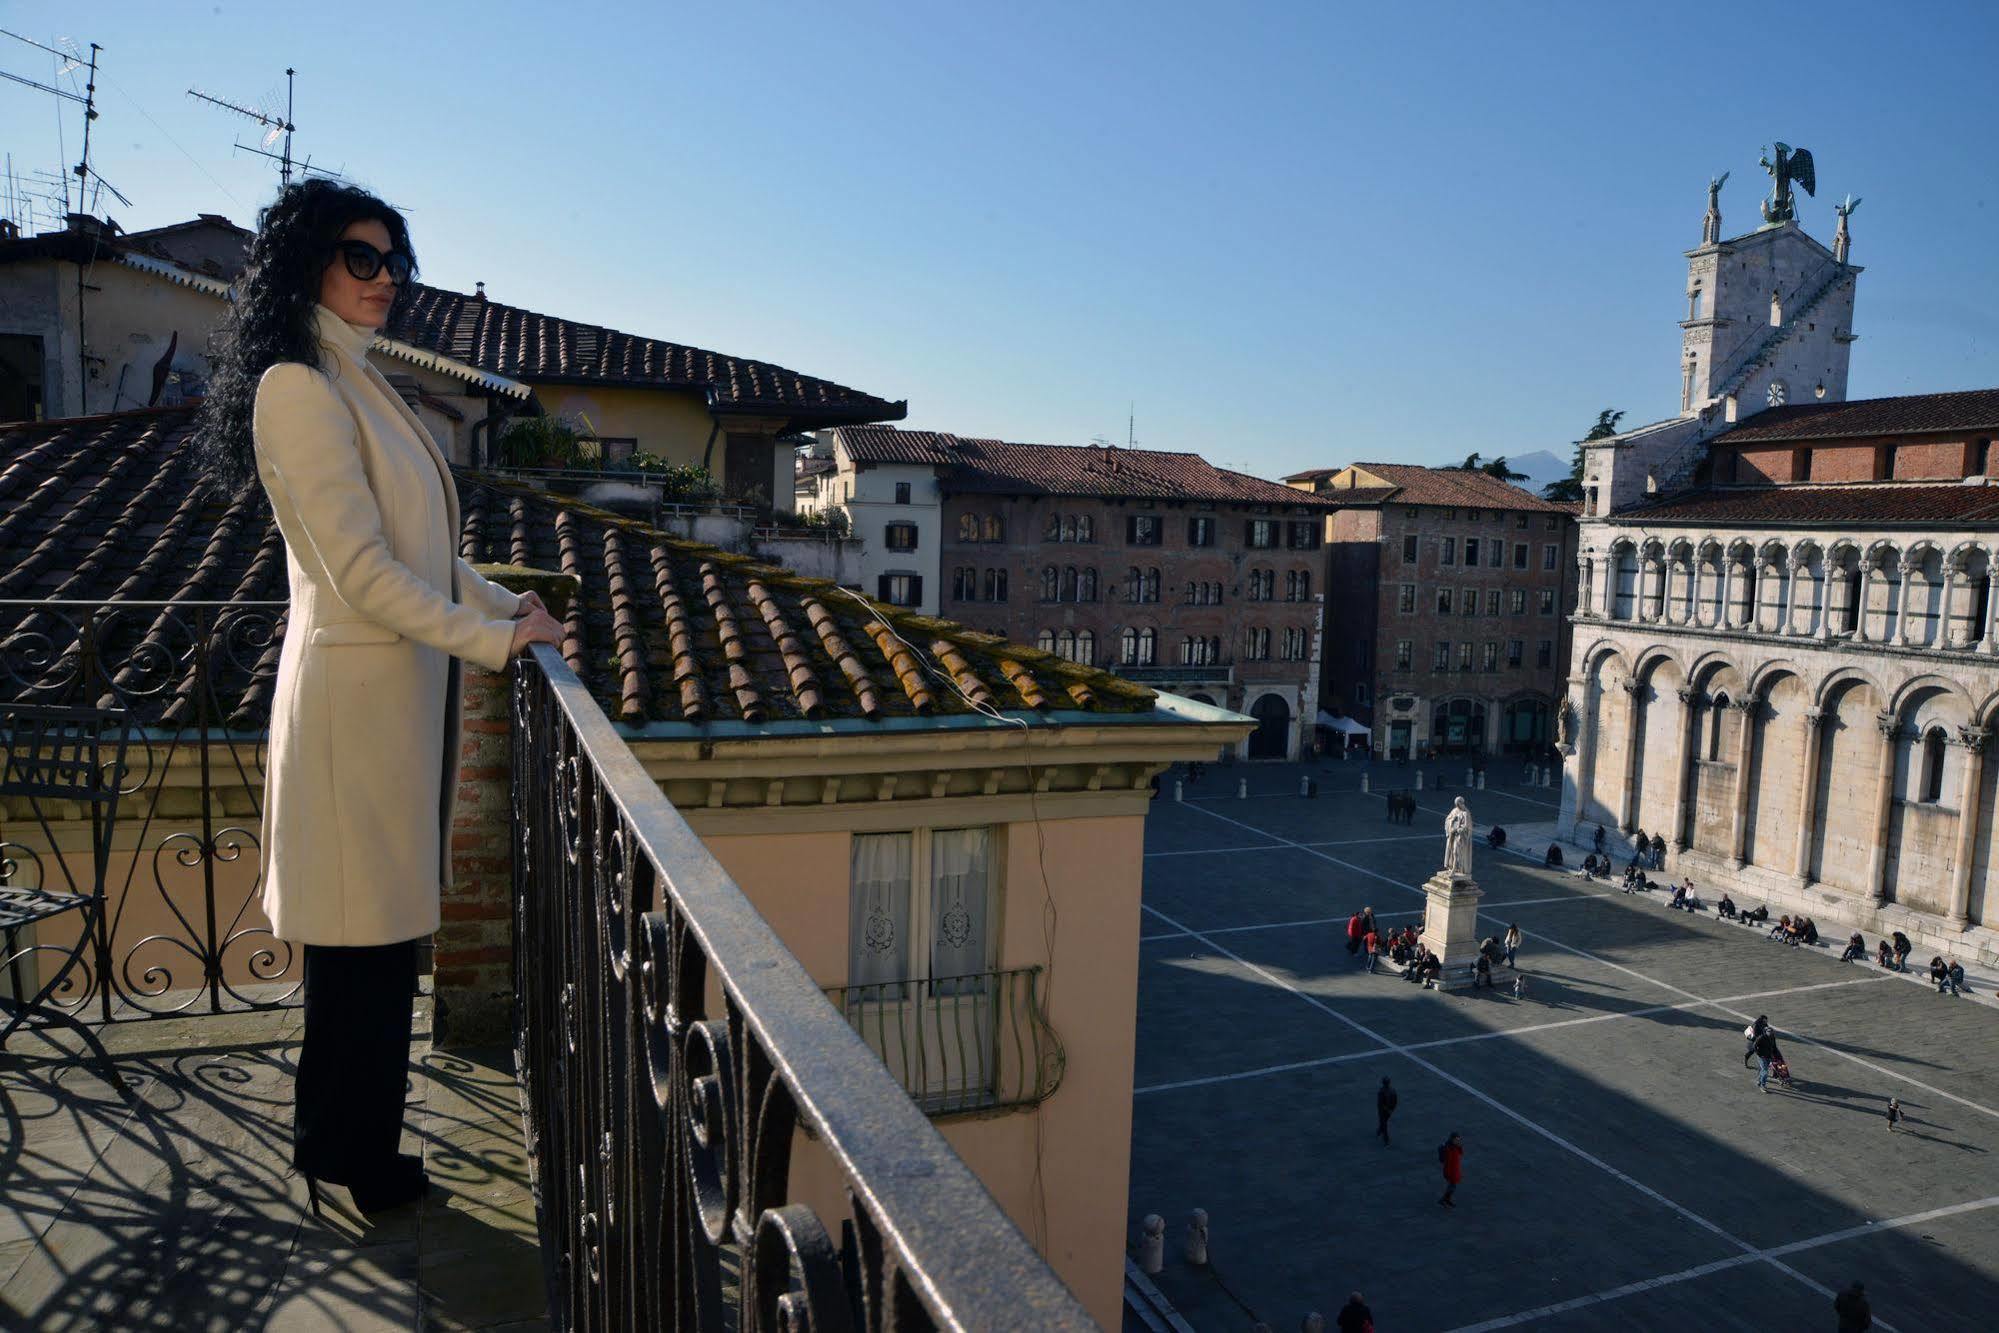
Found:
[[[572,580],[518,566],[474,566],[514,592],[534,590],[562,620]],[[452,887],[440,903],[432,983],[438,1047],[514,1041],[514,671],[460,662],[464,743],[452,817]]]

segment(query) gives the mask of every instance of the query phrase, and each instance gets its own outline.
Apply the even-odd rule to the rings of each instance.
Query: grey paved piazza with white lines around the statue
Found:
[[[1425,765],[1437,771],[1433,765]],[[1195,1329],[1831,1329],[1865,1281],[1877,1329],[1999,1321],[1999,1011],[1831,949],[1685,915],[1485,847],[1555,791],[1419,793],[1359,763],[1207,769],[1147,827],[1131,1235],[1167,1219],[1159,1287]],[[1519,775],[1495,763],[1489,777]],[[1321,791],[1297,795],[1301,773]],[[1401,777],[1397,779],[1397,773]],[[1239,777],[1249,799],[1235,799]],[[1345,917],[1419,921],[1443,813],[1479,819],[1483,933],[1517,921],[1525,999],[1439,995],[1353,965]],[[1535,853],[1541,847],[1533,847]],[[1621,869],[1621,865],[1619,865]],[[1869,939],[1873,943],[1873,939]],[[1507,973],[1499,973],[1501,985]],[[1743,1025],[1779,1027],[1793,1091],[1759,1093]],[[1373,1137],[1381,1077],[1401,1093]],[[1901,1097],[1907,1133],[1883,1109]],[[1465,1141],[1457,1207],[1437,1145]],[[1207,1209],[1213,1265],[1181,1257]]]

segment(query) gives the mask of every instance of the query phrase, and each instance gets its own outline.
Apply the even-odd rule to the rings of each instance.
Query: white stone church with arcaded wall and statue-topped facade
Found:
[[[1563,831],[1999,959],[1999,390],[1849,402],[1851,206],[1721,240],[1717,192],[1679,416],[1585,450]]]

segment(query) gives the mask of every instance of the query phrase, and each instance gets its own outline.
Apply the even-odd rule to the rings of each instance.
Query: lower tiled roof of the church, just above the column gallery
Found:
[[[1877,486],[1727,486],[1619,510],[1613,524],[1999,524],[1999,486],[1885,482]]]

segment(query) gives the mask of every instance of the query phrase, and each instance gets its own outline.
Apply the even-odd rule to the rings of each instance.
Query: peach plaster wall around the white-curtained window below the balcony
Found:
[[[978,813],[964,809],[938,827],[970,823],[980,823]],[[1039,1107],[944,1119],[938,1129],[1097,1323],[1115,1329],[1131,1167],[1143,815],[1059,817],[1059,797],[1047,797],[1039,825],[1001,827],[1000,967],[1047,967],[1043,999],[1067,1067]],[[850,833],[710,833],[702,841],[816,981],[846,981]],[[1055,905],[1053,965],[1043,935],[1043,861]],[[792,1197],[818,1209],[838,1237],[848,1215],[844,1177],[804,1133],[794,1143],[792,1179]]]

